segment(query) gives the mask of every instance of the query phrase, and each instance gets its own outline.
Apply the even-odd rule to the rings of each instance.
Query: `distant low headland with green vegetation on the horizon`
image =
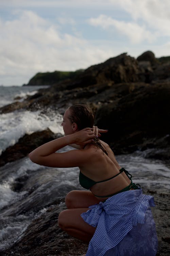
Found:
[[[52,85],[65,79],[72,79],[83,71],[83,69],[79,69],[76,71],[39,72],[30,79],[28,85]]]

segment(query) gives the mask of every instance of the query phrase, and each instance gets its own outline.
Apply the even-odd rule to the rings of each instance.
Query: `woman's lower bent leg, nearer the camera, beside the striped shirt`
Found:
[[[72,237],[89,242],[96,228],[88,225],[81,217],[81,213],[87,210],[88,208],[74,208],[62,211],[58,216],[58,225]]]

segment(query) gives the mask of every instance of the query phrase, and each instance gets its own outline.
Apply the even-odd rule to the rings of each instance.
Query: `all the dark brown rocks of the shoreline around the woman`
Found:
[[[4,106],[0,113],[20,109],[39,109],[48,113],[53,109],[63,114],[72,104],[88,104],[95,112],[95,124],[108,129],[102,138],[115,154],[145,150],[146,158],[164,160],[169,164],[169,99],[170,63],[158,62],[152,52],[137,59],[123,53],[89,67],[73,79],[40,89],[22,102]],[[53,134],[50,130],[24,135],[18,143],[2,152],[0,166],[26,157],[37,146],[58,136],[61,134]],[[155,198],[156,207],[152,212],[159,240],[157,256],[168,256],[169,192],[164,186],[160,191],[143,187],[143,192]],[[86,253],[87,244],[71,238],[56,225],[59,212],[65,208],[64,199],[61,204],[51,202],[50,205],[48,211],[32,221],[14,245],[1,252],[2,255],[76,256]]]

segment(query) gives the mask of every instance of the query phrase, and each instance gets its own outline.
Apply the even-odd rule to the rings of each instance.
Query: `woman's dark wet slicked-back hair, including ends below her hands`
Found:
[[[94,113],[91,108],[85,104],[75,104],[69,107],[70,116],[68,119],[71,123],[76,123],[79,130],[82,130],[86,127],[92,128],[94,126]],[[107,150],[101,144],[99,138],[94,138],[94,142],[98,148],[101,148],[102,151],[107,154]]]

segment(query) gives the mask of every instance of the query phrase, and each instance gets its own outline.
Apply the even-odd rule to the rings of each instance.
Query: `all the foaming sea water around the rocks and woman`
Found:
[[[34,94],[40,86],[0,86],[0,107],[23,100]],[[38,111],[14,111],[0,114],[0,154],[14,145],[24,134],[47,128],[62,133],[62,116],[51,109],[44,114]],[[65,147],[61,151],[71,149]],[[133,181],[145,190],[170,189],[170,165],[146,159],[147,152],[116,156],[119,164],[133,175]],[[80,188],[79,169],[49,168],[32,163],[28,157],[0,167],[0,252],[17,241],[30,222],[60,203],[66,195],[64,188]],[[20,185],[20,188],[17,185]],[[21,186],[23,184],[23,187]]]

